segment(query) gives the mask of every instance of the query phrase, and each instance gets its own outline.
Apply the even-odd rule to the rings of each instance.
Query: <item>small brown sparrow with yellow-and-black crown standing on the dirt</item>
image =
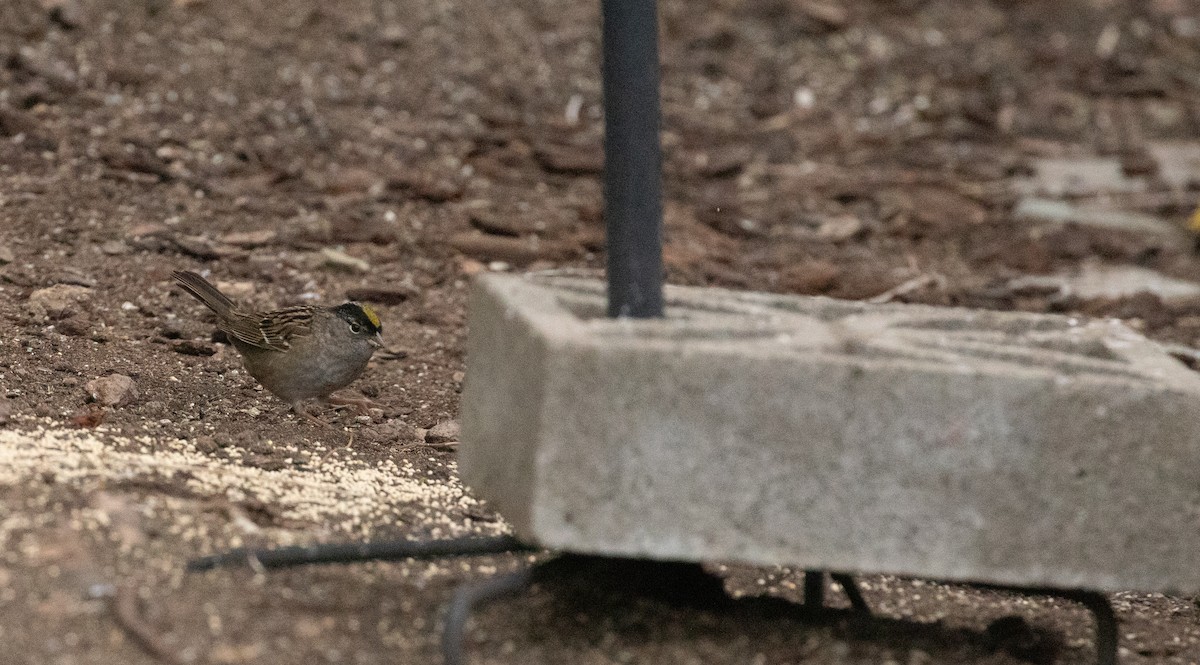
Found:
[[[308,419],[304,400],[329,399],[330,393],[346,388],[383,347],[379,317],[366,305],[298,305],[256,312],[239,308],[196,272],[176,270],[172,277],[217,314],[217,329],[241,354],[250,376]]]

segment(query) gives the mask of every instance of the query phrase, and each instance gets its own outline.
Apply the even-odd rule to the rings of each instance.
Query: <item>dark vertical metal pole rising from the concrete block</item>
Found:
[[[662,316],[655,0],[601,0],[608,316]]]

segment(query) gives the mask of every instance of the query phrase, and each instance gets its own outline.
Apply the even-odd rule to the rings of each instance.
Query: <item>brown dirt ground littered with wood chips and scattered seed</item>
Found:
[[[1200,299],[1028,286],[1096,264],[1200,280],[1183,230],[1200,176],[1166,178],[1150,149],[1200,136],[1200,2],[660,5],[670,281],[1116,316],[1200,345]],[[440,661],[454,589],[527,556],[182,563],[504,531],[436,435],[457,415],[470,276],[602,265],[598,6],[0,2],[0,660]],[[1039,160],[1091,157],[1138,186],[1060,198],[1178,233],[1016,214]],[[298,420],[173,269],[262,306],[373,302],[389,352],[354,388],[383,408]],[[739,595],[800,583],[713,570]],[[1092,658],[1069,604],[863,582],[878,618],[544,585],[481,612],[468,647],[496,664]],[[1112,600],[1122,663],[1200,663],[1192,599]]]

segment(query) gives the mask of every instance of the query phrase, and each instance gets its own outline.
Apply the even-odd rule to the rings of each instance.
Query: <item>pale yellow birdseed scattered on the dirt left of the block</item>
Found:
[[[287,520],[358,538],[370,537],[377,527],[396,525],[401,517],[406,526],[434,537],[508,529],[499,521],[480,523],[467,517],[479,510],[479,502],[466,493],[456,474],[437,480],[425,478],[408,462],[384,460],[368,467],[318,455],[312,455],[302,468],[266,471],[239,463],[244,450],[229,447],[224,453],[229,460],[210,457],[187,439],[131,439],[104,429],[4,430],[0,486],[34,478],[72,486],[170,480],[199,497],[234,502],[253,498]]]

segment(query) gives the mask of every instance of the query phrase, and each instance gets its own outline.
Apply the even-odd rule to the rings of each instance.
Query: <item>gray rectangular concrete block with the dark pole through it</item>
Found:
[[[1200,592],[1200,377],[1117,322],[480,278],[460,467],[547,547]]]

